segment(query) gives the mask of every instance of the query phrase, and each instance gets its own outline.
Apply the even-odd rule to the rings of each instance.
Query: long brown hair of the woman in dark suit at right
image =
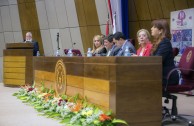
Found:
[[[159,20],[152,21],[152,26],[163,31],[157,38],[154,38],[153,46],[151,50],[151,54],[153,55],[153,53],[158,48],[158,45],[164,38],[171,39],[171,34],[170,34],[169,24],[165,19],[159,19]]]

